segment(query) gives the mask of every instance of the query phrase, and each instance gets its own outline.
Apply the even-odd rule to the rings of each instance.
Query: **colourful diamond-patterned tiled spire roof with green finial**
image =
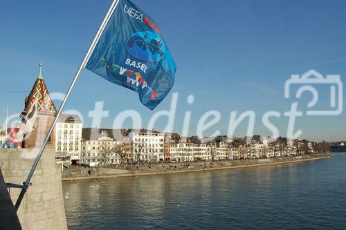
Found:
[[[26,99],[24,113],[28,112],[35,102],[37,102],[37,112],[57,113],[57,109],[55,108],[51,95],[49,95],[46,83],[44,83],[44,79],[42,77],[42,63],[39,64],[39,75],[28,96],[28,99]]]

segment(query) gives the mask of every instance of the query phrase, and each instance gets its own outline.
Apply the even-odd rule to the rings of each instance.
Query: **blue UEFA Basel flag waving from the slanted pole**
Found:
[[[85,68],[136,91],[150,109],[170,92],[176,72],[160,29],[129,0],[119,0]]]

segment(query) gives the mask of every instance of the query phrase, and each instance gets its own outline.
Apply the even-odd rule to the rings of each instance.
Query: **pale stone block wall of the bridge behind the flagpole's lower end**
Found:
[[[0,159],[6,154],[0,150]],[[1,168],[6,183],[22,184],[33,166],[39,149],[19,148],[11,151]],[[61,168],[55,163],[55,148],[47,146],[17,212],[21,227],[26,229],[67,229],[62,194]],[[9,189],[13,204],[20,189]]]

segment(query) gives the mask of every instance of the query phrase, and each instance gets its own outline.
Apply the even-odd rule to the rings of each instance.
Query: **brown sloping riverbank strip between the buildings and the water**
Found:
[[[152,163],[133,164],[131,166],[104,166],[89,168],[85,166],[73,166],[71,169],[62,171],[62,181],[91,180],[124,178],[144,175],[161,175],[167,173],[187,173],[194,171],[211,171],[221,169],[239,169],[253,166],[272,164],[288,164],[295,162],[307,162],[332,157],[331,153],[317,155],[301,155],[291,157],[275,157],[254,160],[224,160],[214,162],[182,162],[182,163]]]

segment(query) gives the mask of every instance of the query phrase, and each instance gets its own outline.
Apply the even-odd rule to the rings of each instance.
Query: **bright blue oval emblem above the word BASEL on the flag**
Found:
[[[136,32],[127,41],[127,51],[133,57],[143,61],[160,61],[166,55],[163,39],[154,32]]]

